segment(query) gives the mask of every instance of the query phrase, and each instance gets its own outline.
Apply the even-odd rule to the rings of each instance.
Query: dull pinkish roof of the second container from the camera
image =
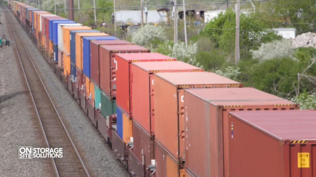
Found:
[[[194,88],[189,92],[216,106],[230,105],[294,105],[295,103],[255,88]]]

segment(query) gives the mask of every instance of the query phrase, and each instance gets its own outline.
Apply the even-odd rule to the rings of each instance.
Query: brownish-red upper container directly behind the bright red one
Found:
[[[116,96],[116,54],[119,53],[149,53],[150,49],[146,49],[139,45],[106,45],[100,47],[99,63],[100,69],[94,65],[96,71],[100,71],[100,88],[111,98]],[[128,62],[127,62],[128,63]],[[97,62],[94,62],[97,64]],[[92,67],[92,65],[91,65]],[[91,70],[94,70],[91,68]],[[94,74],[95,75],[95,74]],[[98,75],[97,75],[98,76]],[[91,76],[92,77],[92,76]],[[128,77],[128,76],[127,76]],[[102,78],[102,79],[100,79]],[[97,80],[97,77],[94,77]]]

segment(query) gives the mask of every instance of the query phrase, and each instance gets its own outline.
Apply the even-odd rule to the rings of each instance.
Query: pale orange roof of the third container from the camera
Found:
[[[173,85],[239,84],[212,72],[161,72],[155,73],[155,76],[161,77]]]

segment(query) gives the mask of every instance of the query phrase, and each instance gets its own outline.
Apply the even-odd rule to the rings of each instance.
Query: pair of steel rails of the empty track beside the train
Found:
[[[7,14],[7,13],[5,13],[5,17],[6,17],[6,20],[7,20],[7,22],[8,22],[9,19],[8,19],[8,14]],[[14,23],[14,22],[12,22],[12,23]],[[9,24],[9,23],[8,23],[8,24]],[[60,123],[61,123],[61,125],[62,125],[62,127],[63,127],[63,129],[64,129],[64,131],[65,131],[65,133],[66,133],[66,135],[67,135],[67,137],[68,137],[68,140],[69,140],[70,143],[71,143],[71,146],[73,147],[73,149],[74,149],[75,152],[76,152],[77,157],[79,158],[79,161],[80,161],[80,163],[81,163],[81,165],[82,165],[82,167],[83,167],[83,169],[84,169],[84,172],[86,173],[86,175],[87,175],[88,177],[90,177],[90,174],[89,174],[89,172],[88,172],[86,166],[84,165],[84,163],[83,163],[83,161],[82,161],[82,158],[80,157],[79,152],[78,152],[78,150],[77,150],[75,144],[73,143],[73,141],[72,141],[72,139],[71,139],[71,137],[70,137],[70,134],[68,133],[68,131],[67,131],[67,129],[66,129],[66,126],[64,125],[64,122],[63,122],[63,120],[61,119],[61,117],[60,117],[60,115],[59,115],[59,113],[58,113],[58,111],[57,111],[57,108],[56,108],[55,104],[53,103],[52,98],[50,97],[50,95],[49,95],[49,93],[48,93],[48,91],[47,91],[47,89],[46,89],[46,87],[45,87],[45,85],[44,85],[44,83],[43,83],[43,81],[42,81],[42,78],[40,77],[40,74],[39,74],[39,72],[37,71],[37,69],[36,69],[36,67],[35,67],[35,65],[34,65],[34,63],[33,63],[33,60],[32,60],[32,58],[31,58],[30,54],[29,54],[28,51],[27,51],[27,48],[26,48],[26,46],[25,46],[25,44],[24,44],[24,42],[23,42],[23,40],[22,40],[22,38],[21,38],[21,36],[20,36],[20,33],[19,33],[18,30],[16,29],[15,25],[14,25],[14,24],[12,24],[12,25],[14,26],[14,29],[15,29],[16,33],[18,34],[18,37],[21,39],[21,42],[22,42],[22,44],[23,44],[23,46],[24,46],[24,48],[25,48],[25,51],[26,51],[26,53],[27,53],[27,55],[28,55],[28,58],[29,58],[29,60],[31,61],[31,63],[32,63],[33,67],[34,67],[34,70],[36,71],[36,73],[37,73],[37,75],[38,75],[38,77],[39,77],[39,79],[40,79],[40,82],[41,82],[43,88],[45,89],[45,92],[46,92],[46,94],[47,94],[47,96],[48,96],[48,98],[49,98],[49,100],[50,100],[50,102],[51,102],[51,104],[52,104],[52,106],[53,106],[53,108],[54,108],[54,110],[55,110],[57,116],[58,116],[58,119],[59,119],[59,121],[60,121]],[[37,106],[36,106],[36,103],[35,103],[35,100],[34,100],[34,98],[33,98],[33,94],[32,94],[31,88],[30,88],[30,86],[29,86],[29,83],[28,83],[28,80],[27,80],[27,77],[26,77],[26,73],[25,73],[24,67],[23,67],[23,65],[22,65],[22,61],[21,61],[20,54],[19,54],[19,51],[18,51],[18,49],[17,49],[16,43],[15,43],[15,39],[14,39],[13,34],[12,34],[12,31],[11,31],[11,26],[10,26],[10,25],[8,25],[8,26],[9,26],[9,31],[10,31],[11,37],[12,37],[13,42],[14,42],[14,45],[15,45],[15,50],[16,50],[16,52],[17,52],[17,54],[18,54],[18,58],[19,58],[19,61],[20,61],[20,64],[21,64],[21,68],[22,68],[22,71],[23,71],[23,75],[24,75],[25,80],[26,80],[26,83],[27,83],[28,90],[29,90],[30,95],[31,95],[31,97],[32,97],[33,105],[34,105],[34,107],[35,107],[36,114],[37,114],[37,117],[38,117],[38,119],[39,119],[40,126],[41,126],[42,132],[43,132],[44,137],[45,137],[46,144],[47,144],[48,148],[50,148],[49,143],[48,143],[48,140],[47,140],[47,136],[46,136],[46,133],[45,133],[45,130],[44,130],[44,127],[43,127],[43,124],[42,124],[42,121],[41,121],[41,118],[40,118],[40,115],[39,115],[39,112],[38,112],[38,109],[37,109]],[[59,176],[59,173],[58,173],[58,168],[57,168],[57,166],[56,166],[56,163],[55,163],[54,158],[52,158],[52,162],[53,162],[53,166],[54,166],[56,175],[57,175],[58,177],[60,177],[60,176]]]

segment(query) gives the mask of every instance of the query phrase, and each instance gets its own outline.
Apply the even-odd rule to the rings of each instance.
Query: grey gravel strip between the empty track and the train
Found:
[[[14,17],[13,14],[10,15]],[[22,30],[16,20],[14,22],[90,175],[130,176],[88,116],[52,72],[51,66],[43,58],[26,32]]]

